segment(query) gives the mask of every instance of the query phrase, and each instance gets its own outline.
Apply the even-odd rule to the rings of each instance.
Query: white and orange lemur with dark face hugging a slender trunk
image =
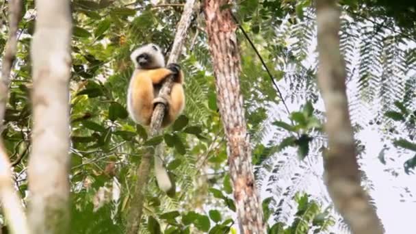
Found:
[[[135,65],[127,94],[127,110],[131,118],[136,123],[148,126],[151,124],[154,107],[157,103],[163,103],[167,111],[161,127],[168,127],[185,107],[181,66],[168,64],[165,68],[164,55],[156,44],[145,44],[135,49],[130,58]],[[162,81],[169,75],[174,75],[170,95],[160,95]],[[160,157],[155,157],[155,176],[161,190],[168,192],[172,188],[168,172]]]

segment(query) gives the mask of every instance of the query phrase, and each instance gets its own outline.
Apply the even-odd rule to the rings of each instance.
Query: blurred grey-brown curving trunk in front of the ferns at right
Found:
[[[361,187],[354,133],[348,112],[346,68],[339,49],[339,9],[335,0],[316,0],[318,83],[326,109],[328,151],[324,154],[326,187],[335,208],[354,234],[383,233],[368,195]]]

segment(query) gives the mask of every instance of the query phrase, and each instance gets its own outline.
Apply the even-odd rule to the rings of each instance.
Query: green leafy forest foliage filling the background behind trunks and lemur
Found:
[[[25,197],[32,134],[29,48],[35,9],[34,1],[23,2],[25,17],[19,25],[18,54],[1,135],[16,163],[16,185]],[[316,27],[311,4],[310,0],[247,0],[237,1],[236,6],[239,26],[270,73],[238,29],[252,164],[268,233],[339,233],[335,228],[340,226],[343,230],[339,216],[328,205],[321,176],[325,116],[315,81]],[[410,174],[416,166],[416,49],[409,46],[416,40],[414,12],[387,1],[341,4],[340,46],[356,133],[378,129],[384,144],[379,155],[382,164],[389,167],[406,155],[402,168]],[[146,128],[135,125],[126,110],[127,84],[133,72],[129,54],[146,42],[156,42],[168,53],[181,5],[74,0],[71,8],[71,233],[125,231],[125,215],[137,180],[135,168],[144,148],[157,144],[165,146],[166,166],[177,193],[172,198],[162,194],[151,177],[144,233],[235,232],[233,187],[204,16],[195,15],[180,59],[185,73],[185,112],[163,135],[149,139]],[[1,9],[7,14],[7,8]],[[7,31],[7,26],[0,27],[0,51],[4,51]],[[356,143],[361,158],[367,152],[359,140]],[[391,148],[398,152],[391,153]],[[400,174],[398,168],[386,170]],[[369,178],[363,181],[371,184]]]

